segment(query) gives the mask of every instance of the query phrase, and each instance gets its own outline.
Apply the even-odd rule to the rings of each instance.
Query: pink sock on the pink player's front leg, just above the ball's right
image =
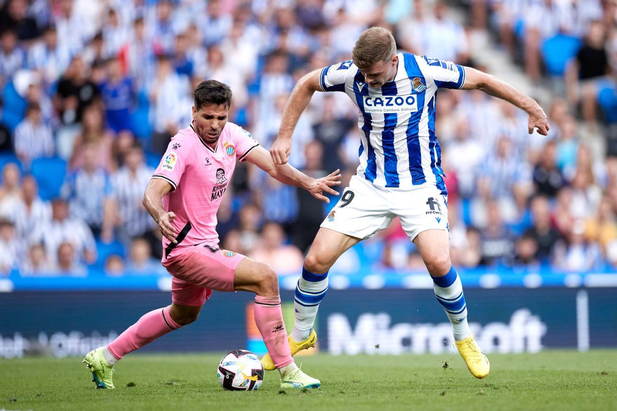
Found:
[[[281,297],[261,297],[255,296],[255,324],[266,343],[266,348],[270,352],[270,357],[276,368],[289,365],[294,360],[289,352],[287,342],[287,332],[283,322],[283,312],[281,311]]]

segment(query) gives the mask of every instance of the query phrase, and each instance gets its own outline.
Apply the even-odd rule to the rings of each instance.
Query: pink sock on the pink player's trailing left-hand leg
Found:
[[[144,314],[138,322],[126,328],[125,332],[107,346],[112,356],[120,360],[129,352],[180,328],[181,325],[176,324],[169,315],[171,307],[158,308]]]

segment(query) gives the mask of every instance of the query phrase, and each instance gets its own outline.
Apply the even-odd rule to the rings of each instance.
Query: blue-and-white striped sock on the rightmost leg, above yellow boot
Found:
[[[454,266],[443,277],[433,277],[433,288],[437,301],[444,307],[445,315],[452,324],[452,333],[456,341],[465,340],[471,336],[467,324],[467,304],[463,295],[463,284]]]

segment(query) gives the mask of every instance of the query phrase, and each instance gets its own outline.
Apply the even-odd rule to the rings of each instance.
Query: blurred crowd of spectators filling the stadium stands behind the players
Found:
[[[192,90],[218,79],[230,120],[269,148],[300,76],[347,60],[370,25],[400,49],[474,65],[474,30],[551,84],[548,137],[479,91],[442,90],[437,136],[460,267],[617,267],[617,2],[468,0],[0,1],[0,275],[164,274],[141,205]],[[611,125],[612,124],[612,125]],[[587,130],[606,138],[600,149]],[[355,173],[357,108],[317,93],[293,136],[310,176]],[[218,213],[223,248],[299,272],[326,208],[239,164]],[[399,222],[334,270],[423,270]],[[97,271],[98,270],[98,271]]]

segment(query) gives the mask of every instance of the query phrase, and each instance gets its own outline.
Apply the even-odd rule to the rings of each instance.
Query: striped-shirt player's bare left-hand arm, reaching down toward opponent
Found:
[[[291,92],[289,100],[287,100],[278,137],[276,137],[270,149],[272,161],[276,165],[283,165],[288,161],[289,153],[291,152],[291,134],[296,128],[298,119],[302,112],[304,112],[304,109],[307,108],[307,105],[309,105],[313,93],[321,91],[319,84],[320,72],[321,70],[314,70],[300,78]]]

